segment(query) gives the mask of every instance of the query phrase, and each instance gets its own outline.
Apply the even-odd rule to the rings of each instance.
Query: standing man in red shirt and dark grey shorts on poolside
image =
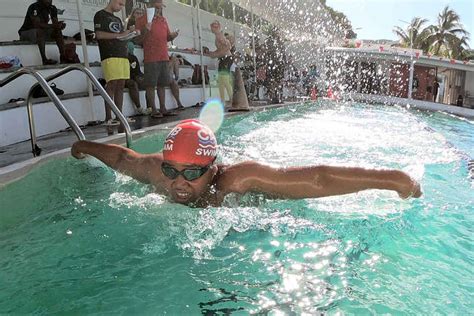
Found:
[[[143,51],[145,55],[145,85],[147,106],[152,108],[152,117],[176,115],[168,112],[165,105],[165,87],[170,85],[168,42],[178,36],[178,32],[170,32],[168,22],[163,16],[163,0],[151,0],[155,7],[155,16],[151,23],[142,16],[137,21],[137,29],[143,34]],[[160,112],[155,105],[155,91],[160,102]]]

